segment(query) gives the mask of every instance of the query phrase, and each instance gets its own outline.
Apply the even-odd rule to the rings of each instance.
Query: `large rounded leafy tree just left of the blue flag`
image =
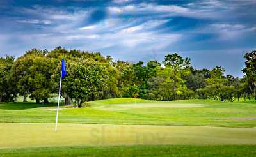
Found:
[[[19,93],[24,96],[24,102],[29,94],[36,103],[40,103],[40,100],[48,102],[47,98],[53,90],[51,75],[57,63],[56,59],[47,58],[46,53],[47,51],[31,49],[13,64],[12,78]]]

